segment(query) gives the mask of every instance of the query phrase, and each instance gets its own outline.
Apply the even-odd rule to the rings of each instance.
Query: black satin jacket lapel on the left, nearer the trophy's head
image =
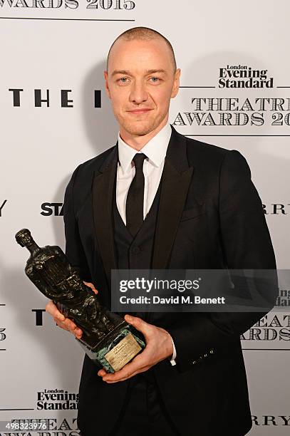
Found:
[[[110,286],[110,270],[116,269],[112,206],[115,199],[115,175],[118,162],[116,145],[93,179],[93,221],[98,249]]]

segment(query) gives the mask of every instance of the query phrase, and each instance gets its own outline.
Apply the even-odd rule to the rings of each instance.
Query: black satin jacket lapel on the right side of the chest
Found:
[[[193,167],[187,162],[186,138],[172,127],[161,180],[152,269],[165,269],[167,266],[192,173]]]

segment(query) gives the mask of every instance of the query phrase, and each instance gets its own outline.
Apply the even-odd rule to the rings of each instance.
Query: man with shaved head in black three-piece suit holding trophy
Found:
[[[111,46],[104,75],[118,142],[76,168],[63,207],[66,254],[101,303],[110,307],[116,268],[275,269],[244,157],[168,123],[180,81],[170,42],[129,29]],[[81,337],[52,302],[46,310]],[[85,356],[81,434],[245,435],[252,421],[239,336],[263,315],[126,315],[147,346],[114,374]]]

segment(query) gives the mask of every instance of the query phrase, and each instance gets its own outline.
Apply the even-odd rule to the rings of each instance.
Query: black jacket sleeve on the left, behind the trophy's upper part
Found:
[[[81,278],[85,281],[91,281],[90,270],[86,260],[86,254],[83,250],[81,237],[78,231],[78,222],[76,219],[73,197],[74,186],[78,170],[81,165],[78,165],[74,170],[71,180],[68,182],[63,200],[63,221],[66,236],[66,256],[72,266],[74,266]]]

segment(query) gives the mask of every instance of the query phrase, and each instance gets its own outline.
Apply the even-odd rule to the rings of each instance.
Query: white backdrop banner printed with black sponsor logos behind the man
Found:
[[[170,123],[242,152],[277,265],[289,269],[289,14],[287,0],[0,0],[0,421],[37,418],[51,429],[40,434],[79,434],[83,351],[44,311],[46,298],[24,274],[29,252],[14,235],[27,227],[38,245],[64,249],[71,173],[117,140],[103,71],[126,29],[148,26],[170,40],[181,68]],[[242,336],[252,436],[289,434],[287,281],[280,296],[285,311]]]

